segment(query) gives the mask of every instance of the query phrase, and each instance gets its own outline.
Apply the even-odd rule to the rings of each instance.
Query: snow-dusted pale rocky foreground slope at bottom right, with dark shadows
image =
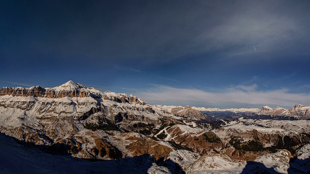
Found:
[[[174,173],[181,173],[181,168],[186,174],[303,174],[310,170],[308,155],[308,145],[298,151],[296,160],[291,160],[288,150],[265,154],[253,161],[232,160],[224,154],[201,156],[187,150],[177,150],[166,157],[165,166]]]

